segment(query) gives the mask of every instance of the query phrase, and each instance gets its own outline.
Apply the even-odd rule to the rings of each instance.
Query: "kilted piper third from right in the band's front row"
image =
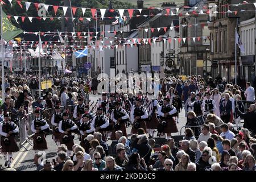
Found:
[[[112,111],[111,117],[114,124],[114,129],[112,131],[111,140],[115,140],[115,131],[121,130],[123,136],[127,138],[126,132],[126,121],[129,121],[129,115],[126,110],[121,107],[120,101],[115,101],[115,109]]]

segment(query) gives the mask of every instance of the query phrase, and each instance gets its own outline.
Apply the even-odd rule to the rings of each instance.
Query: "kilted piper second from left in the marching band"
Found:
[[[49,125],[43,117],[40,117],[40,109],[35,110],[35,119],[31,123],[31,131],[35,133],[33,150],[47,150],[46,133],[49,133]]]

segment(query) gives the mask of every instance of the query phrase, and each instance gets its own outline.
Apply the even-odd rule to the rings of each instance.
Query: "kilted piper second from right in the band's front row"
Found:
[[[131,129],[131,133],[137,134],[137,130],[141,127],[144,131],[147,131],[146,122],[148,119],[147,109],[142,105],[142,98],[136,98],[136,105],[131,109],[131,123],[133,127]]]

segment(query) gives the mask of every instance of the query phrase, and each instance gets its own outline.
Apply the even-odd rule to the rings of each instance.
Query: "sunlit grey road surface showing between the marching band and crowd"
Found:
[[[97,102],[98,99],[98,95],[90,95],[89,98],[90,100],[93,102]],[[185,118],[185,111],[184,109],[181,110],[181,113],[179,114],[179,123],[177,123],[177,128],[180,131],[181,127],[185,126],[185,123],[187,122],[187,119]],[[131,126],[129,126],[127,128],[127,133],[129,134],[131,131]],[[182,134],[184,134],[184,128],[182,130]],[[156,135],[156,133],[155,133]],[[180,135],[180,133],[175,133],[172,135]],[[47,135],[47,146],[48,146],[48,150],[45,151],[39,151],[42,152],[43,154],[45,154],[45,158],[49,159],[52,161],[52,159],[55,159],[57,156],[57,146],[55,144],[55,142],[52,139],[52,135]],[[79,144],[79,137],[76,135],[75,140],[74,140],[75,144]],[[108,140],[107,142],[109,145],[111,143],[111,140]],[[20,150],[18,152],[15,152],[15,154],[13,155],[13,161],[11,163],[11,167],[15,168],[17,171],[35,171],[36,170],[36,164],[34,164],[34,155],[36,154],[35,151],[32,150],[32,146],[29,143],[25,143],[24,144],[25,148],[20,148]],[[3,155],[0,154],[0,165],[4,165],[5,164],[5,160],[3,158]]]

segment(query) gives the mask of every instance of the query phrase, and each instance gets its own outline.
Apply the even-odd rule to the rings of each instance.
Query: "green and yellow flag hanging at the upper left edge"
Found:
[[[23,31],[11,24],[7,15],[3,11],[3,39],[5,39],[6,42],[9,42],[21,33],[23,33]]]

